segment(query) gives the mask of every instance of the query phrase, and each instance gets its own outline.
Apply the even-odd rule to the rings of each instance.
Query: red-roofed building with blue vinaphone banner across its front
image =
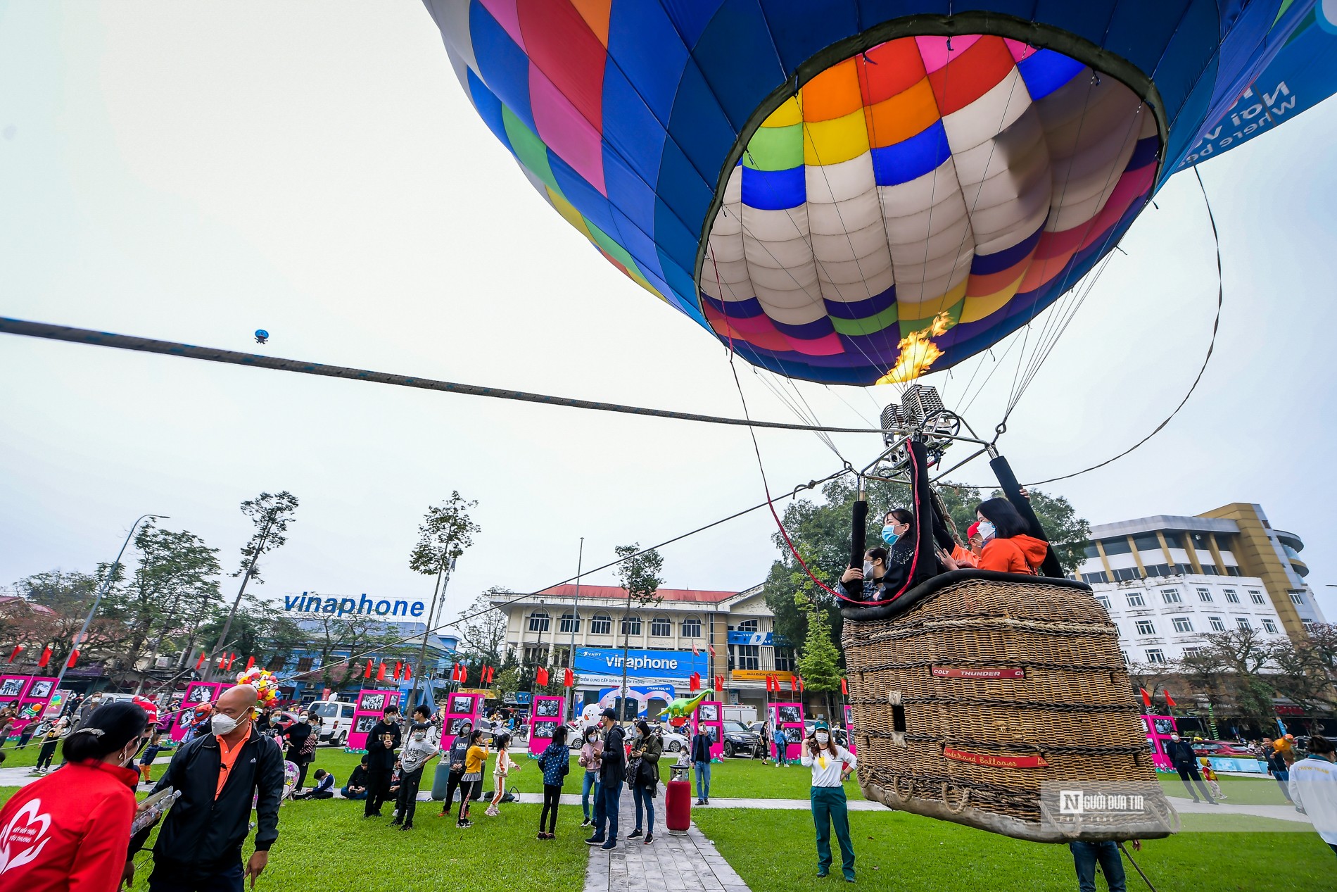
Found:
[[[726,703],[761,707],[766,675],[787,685],[794,651],[777,642],[761,586],[746,591],[660,588],[659,603],[628,610],[612,586],[556,586],[528,598],[493,595],[507,611],[507,647],[525,665],[572,667],[576,703],[611,702],[622,685],[623,645],[632,698],[651,713],[689,691],[693,673],[710,687],[722,677]],[[572,661],[572,647],[575,659]],[[757,710],[758,715],[762,710]]]

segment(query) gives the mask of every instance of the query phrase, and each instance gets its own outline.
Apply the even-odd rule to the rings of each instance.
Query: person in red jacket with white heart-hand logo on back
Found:
[[[130,768],[148,714],[99,706],[66,738],[67,764],[0,809],[0,888],[115,892],[126,868],[139,772]]]

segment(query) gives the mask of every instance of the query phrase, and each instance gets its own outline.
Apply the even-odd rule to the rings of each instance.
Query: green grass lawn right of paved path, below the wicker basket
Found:
[[[830,879],[816,876],[817,849],[809,813],[697,809],[693,817],[753,889],[830,888]],[[1225,826],[1221,817],[1187,816],[1185,829],[1219,829]],[[1312,828],[1246,820],[1253,832],[1182,832],[1143,843],[1134,857],[1161,892],[1333,888],[1332,849]],[[1023,843],[890,810],[853,812],[850,829],[860,885],[953,892],[1076,888],[1066,845]],[[1286,832],[1296,829],[1302,832]],[[783,855],[777,855],[781,848]],[[838,849],[834,867],[838,871]],[[1127,861],[1124,868],[1128,888],[1144,888]],[[1098,884],[1104,889],[1103,880]]]

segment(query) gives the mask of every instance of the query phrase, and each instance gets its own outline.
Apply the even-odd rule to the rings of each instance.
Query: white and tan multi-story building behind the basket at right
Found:
[[[1095,526],[1076,575],[1119,626],[1124,658],[1162,663],[1191,654],[1203,633],[1249,627],[1300,639],[1324,622],[1302,548],[1259,506],[1237,503]]]

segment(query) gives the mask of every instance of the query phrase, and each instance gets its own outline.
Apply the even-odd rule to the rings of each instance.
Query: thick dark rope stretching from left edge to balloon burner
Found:
[[[881,433],[877,428],[822,428],[812,424],[792,424],[786,421],[751,421],[745,419],[727,419],[714,415],[698,415],[694,412],[674,412],[671,409],[651,409],[636,405],[622,405],[618,403],[596,403],[594,400],[576,400],[572,397],[551,396],[545,393],[528,393],[525,391],[508,391],[504,388],[481,386],[477,384],[460,384],[456,381],[437,381],[421,378],[412,374],[398,374],[393,372],[373,372],[370,369],[354,369],[342,365],[326,365],[324,362],[308,362],[305,360],[286,360],[262,353],[241,353],[238,350],[223,350],[211,346],[195,346],[176,341],[159,341],[148,337],[135,337],[130,334],[115,334],[111,332],[95,332],[92,329],[72,328],[68,325],[51,325],[47,322],[31,322],[0,317],[0,333],[23,334],[27,337],[40,337],[52,341],[70,341],[71,344],[91,344],[96,346],[110,346],[119,350],[139,350],[142,353],[162,353],[167,356],[180,356],[206,362],[225,362],[230,365],[247,365],[277,372],[295,372],[298,374],[316,374],[321,377],[349,378],[353,381],[370,381],[373,384],[393,384],[397,386],[417,388],[422,391],[443,391],[445,393],[464,393],[468,396],[484,396],[493,400],[517,400],[520,403],[541,403],[547,405],[560,405],[572,409],[591,409],[595,412],[620,412],[623,415],[642,415],[655,419],[674,419],[678,421],[698,421],[702,424],[727,424],[734,427],[771,428],[777,431],[808,431],[821,433]]]

